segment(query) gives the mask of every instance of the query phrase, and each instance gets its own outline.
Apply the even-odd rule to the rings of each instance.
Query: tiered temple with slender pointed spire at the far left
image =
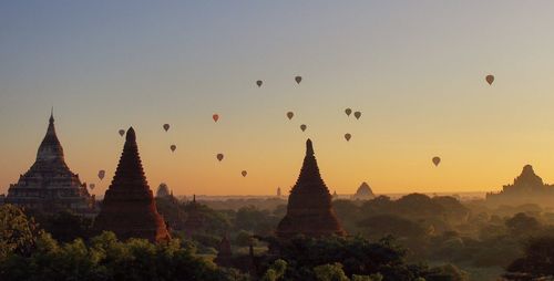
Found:
[[[95,215],[94,196],[65,164],[63,147],[55,134],[53,111],[34,164],[20,175],[17,184],[10,185],[4,201],[47,214],[70,210],[88,217]]]

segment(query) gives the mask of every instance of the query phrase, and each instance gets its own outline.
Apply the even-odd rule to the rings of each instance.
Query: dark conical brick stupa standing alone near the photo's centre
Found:
[[[329,189],[319,174],[310,139],[306,142],[300,175],[288,197],[287,215],[277,226],[276,233],[279,238],[346,235],[332,209]]]

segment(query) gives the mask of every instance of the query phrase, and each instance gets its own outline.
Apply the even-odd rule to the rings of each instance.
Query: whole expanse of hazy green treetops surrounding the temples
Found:
[[[275,200],[268,200],[271,207],[267,208],[264,201],[239,206],[235,200],[234,208],[218,210],[173,197],[156,198],[156,202],[175,238],[167,244],[93,233],[91,219],[70,212],[43,216],[2,206],[0,280],[490,280],[499,275],[533,280],[553,275],[554,215],[536,205],[490,208],[480,201],[420,194],[397,200],[335,200],[348,238],[298,237],[284,242],[273,233],[286,205]],[[191,216],[202,221],[194,231],[186,225]],[[229,268],[213,262],[224,236],[232,244]],[[486,274],[480,275],[481,271]]]

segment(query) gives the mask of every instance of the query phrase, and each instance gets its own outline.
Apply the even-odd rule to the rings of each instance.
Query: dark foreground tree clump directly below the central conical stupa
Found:
[[[406,250],[391,237],[377,242],[362,237],[297,237],[273,242],[279,252],[261,257],[260,270],[266,272],[264,277],[275,274],[274,280],[466,280],[453,266],[431,269],[407,263]]]

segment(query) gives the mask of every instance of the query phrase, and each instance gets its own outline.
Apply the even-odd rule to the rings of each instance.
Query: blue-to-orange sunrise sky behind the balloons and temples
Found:
[[[1,1],[0,194],[34,162],[51,106],[66,163],[100,196],[130,126],[151,188],[177,195],[286,191],[308,137],[331,192],[362,181],[376,194],[500,190],[525,164],[554,183],[553,10],[550,0]]]

